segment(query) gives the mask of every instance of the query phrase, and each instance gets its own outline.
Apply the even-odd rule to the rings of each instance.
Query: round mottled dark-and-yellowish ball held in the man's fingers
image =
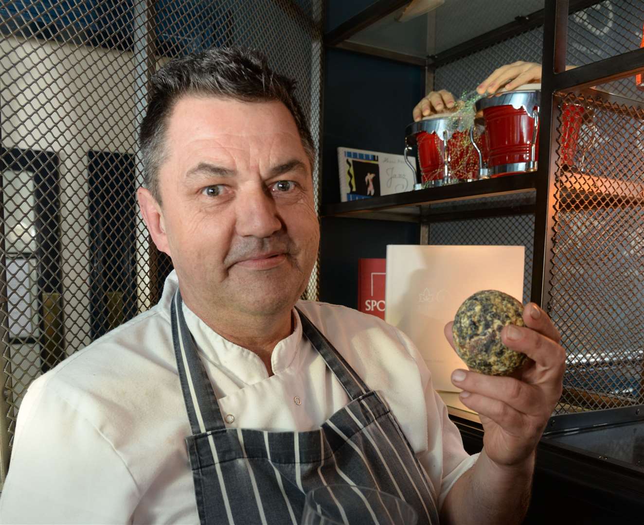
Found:
[[[524,326],[523,305],[498,290],[482,290],[460,305],[452,333],[456,352],[471,370],[491,376],[507,376],[526,360],[526,355],[501,342],[508,324]]]

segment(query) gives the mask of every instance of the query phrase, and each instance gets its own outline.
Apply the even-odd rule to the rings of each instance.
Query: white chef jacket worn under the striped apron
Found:
[[[170,322],[177,286],[173,272],[154,308],[32,383],[17,419],[0,522],[198,523]],[[321,302],[297,306],[390,405],[440,508],[477,456],[464,451],[413,343],[372,315]],[[269,377],[256,354],[183,308],[228,427],[313,430],[349,402],[303,337],[295,310],[294,332],[276,345]]]

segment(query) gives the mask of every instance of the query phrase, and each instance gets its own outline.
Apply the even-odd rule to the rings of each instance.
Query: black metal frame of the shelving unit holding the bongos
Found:
[[[638,109],[643,107],[641,102],[589,88],[611,82],[616,78],[635,75],[638,71],[644,70],[644,49],[629,51],[609,59],[598,60],[591,64],[565,71],[569,14],[598,3],[596,0],[545,0],[544,9],[535,14],[519,17],[514,23],[506,24],[493,32],[480,35],[475,39],[455,46],[451,50],[427,57],[426,67],[431,70],[475,50],[480,50],[484,46],[493,45],[540,24],[544,25],[539,139],[542,147],[540,147],[538,156],[538,170],[526,174],[460,183],[433,189],[415,190],[378,198],[326,204],[321,207],[321,215],[418,222],[421,224],[420,241],[421,243],[426,243],[428,228],[435,221],[496,217],[509,214],[535,214],[531,300],[547,309],[551,291],[549,275],[552,269],[553,226],[556,211],[555,182],[557,173],[561,172],[558,166],[557,152],[558,128],[560,127],[558,124],[560,122],[558,100],[561,97],[561,92],[574,90],[575,93],[581,95],[585,94],[609,102],[616,102],[617,104],[629,104]],[[342,48],[342,39],[346,39],[365,28],[366,21],[374,23],[379,17],[390,14],[403,4],[404,2],[401,1],[380,0],[369,8],[368,16],[365,16],[365,12],[363,12],[339,26],[337,30],[328,33],[327,37],[325,37],[325,43],[327,46]],[[345,49],[349,48],[345,47]],[[365,52],[364,50],[356,51]],[[369,54],[376,54],[387,59],[396,59],[377,51],[369,51]],[[406,59],[401,61],[413,63],[411,60]],[[544,147],[545,145],[549,145],[549,147]],[[517,196],[522,192],[530,192],[534,198],[533,202],[519,199],[516,204],[510,201],[509,204],[503,204],[495,209],[481,204],[485,200],[481,198],[500,195]],[[477,200],[469,205],[467,203],[468,199]],[[636,204],[641,204],[642,199],[644,199],[644,195],[639,196],[634,201],[636,201]],[[432,207],[434,205],[446,201],[455,203],[451,210],[446,211],[444,206],[441,206],[440,210],[433,212]],[[626,203],[626,205],[629,204]],[[562,432],[567,428],[573,427],[596,427],[598,415],[601,416],[601,425],[639,421],[644,418],[644,405],[636,405],[627,409],[601,410],[601,414],[593,414],[592,412],[587,414],[587,417],[584,414],[576,414],[575,417],[570,417],[569,414],[554,416],[549,423],[549,429],[553,432]],[[587,422],[584,423],[584,421]]]

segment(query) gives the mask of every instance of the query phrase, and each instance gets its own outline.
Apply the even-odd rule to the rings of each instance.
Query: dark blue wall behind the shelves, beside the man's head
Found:
[[[337,147],[403,153],[404,129],[424,91],[418,66],[325,51],[322,202],[340,200]],[[357,307],[357,263],[385,257],[387,244],[417,244],[419,226],[325,217],[320,248],[320,300]]]

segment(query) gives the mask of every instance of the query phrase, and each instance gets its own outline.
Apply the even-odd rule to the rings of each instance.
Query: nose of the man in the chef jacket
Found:
[[[270,190],[256,187],[243,192],[236,202],[236,232],[238,235],[270,237],[282,228],[278,209]]]

